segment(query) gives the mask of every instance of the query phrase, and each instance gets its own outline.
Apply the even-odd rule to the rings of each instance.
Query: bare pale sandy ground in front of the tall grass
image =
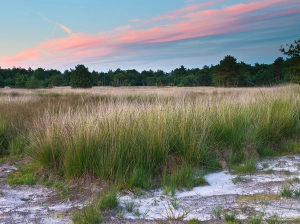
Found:
[[[34,185],[9,186],[6,180],[9,174],[17,171],[21,162],[14,160],[0,163],[0,223],[3,224],[70,224],[71,214],[80,209],[89,195],[84,190],[74,192],[71,200],[58,197],[57,190]],[[105,223],[176,223],[166,220],[188,213],[183,221],[197,218],[203,224],[223,223],[225,212],[236,213],[244,222],[252,216],[262,215],[264,218],[277,216],[284,223],[300,223],[300,199],[297,197],[283,198],[280,191],[283,186],[300,189],[297,179],[300,173],[300,156],[288,155],[264,159],[259,162],[254,175],[242,176],[240,183],[233,183],[236,177],[228,170],[205,175],[209,186],[196,187],[192,191],[176,192],[175,200],[164,195],[162,189],[142,191],[139,196],[130,191],[122,191],[120,206],[123,218],[118,218],[118,211],[105,212]],[[100,188],[94,185],[95,188]],[[81,193],[80,193],[81,192]],[[88,189],[86,192],[91,192]],[[76,196],[76,194],[78,194]],[[61,195],[60,195],[61,196]],[[136,211],[125,212],[123,202],[134,200]],[[175,207],[172,203],[175,201]],[[212,215],[211,208],[220,207],[220,218]],[[138,217],[139,216],[139,217]],[[201,223],[202,223],[201,222]]]

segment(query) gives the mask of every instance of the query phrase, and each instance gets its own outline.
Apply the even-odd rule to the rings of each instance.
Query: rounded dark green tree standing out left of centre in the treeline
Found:
[[[75,70],[71,71],[70,85],[72,88],[91,88],[91,75],[88,68],[78,64]]]

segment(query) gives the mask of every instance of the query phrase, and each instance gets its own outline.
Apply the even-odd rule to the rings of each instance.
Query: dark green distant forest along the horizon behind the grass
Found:
[[[135,69],[107,72],[89,71],[84,65],[63,73],[43,68],[28,69],[12,67],[0,68],[0,87],[11,88],[52,88],[53,86],[71,86],[90,88],[92,86],[216,86],[251,87],[270,86],[282,83],[300,84],[300,38],[294,44],[279,49],[286,59],[278,57],[272,64],[247,64],[236,62],[231,55],[225,56],[217,65],[205,65],[203,68],[186,69],[183,65],[171,72],[163,70]],[[246,53],[246,52],[245,52]]]

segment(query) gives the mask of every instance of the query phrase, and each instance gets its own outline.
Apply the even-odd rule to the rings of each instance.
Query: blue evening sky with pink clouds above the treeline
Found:
[[[171,71],[230,54],[272,63],[300,37],[300,0],[7,0],[0,66]]]

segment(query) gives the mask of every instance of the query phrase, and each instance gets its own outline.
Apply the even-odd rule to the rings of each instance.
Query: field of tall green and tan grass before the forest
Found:
[[[102,204],[128,190],[175,195],[222,169],[253,174],[261,158],[299,154],[299,138],[298,85],[0,90],[0,160],[25,161],[5,181],[88,180]]]

